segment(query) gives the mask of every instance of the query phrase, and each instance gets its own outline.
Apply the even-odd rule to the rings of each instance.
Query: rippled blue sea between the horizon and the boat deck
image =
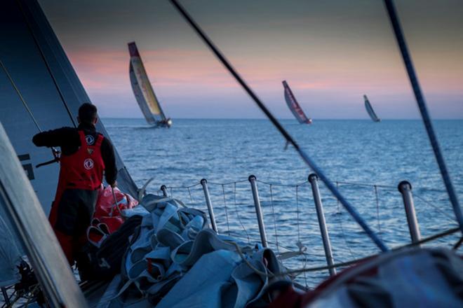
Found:
[[[303,251],[283,261],[290,269],[326,265],[307,176],[311,170],[267,120],[182,120],[170,129],[147,127],[143,119],[103,119],[138,186],[154,178],[149,193],[169,195],[206,211],[199,181],[208,180],[221,233],[255,244],[260,240],[248,176],[257,177],[265,230],[276,253]],[[389,247],[410,242],[397,185],[410,181],[423,237],[456,226],[452,207],[419,120],[283,120],[298,144],[335,182]],[[463,121],[434,121],[459,200],[463,202]],[[335,262],[379,250],[319,183]],[[457,236],[429,246],[452,246]],[[299,248],[302,247],[302,248]],[[315,286],[328,272],[297,279]]]

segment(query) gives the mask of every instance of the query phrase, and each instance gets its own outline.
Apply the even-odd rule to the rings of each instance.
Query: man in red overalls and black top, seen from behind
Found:
[[[36,146],[61,148],[60,178],[49,221],[70,265],[86,242],[103,172],[112,187],[117,174],[112,144],[95,130],[96,107],[82,104],[77,120],[77,128],[49,130],[32,139]]]

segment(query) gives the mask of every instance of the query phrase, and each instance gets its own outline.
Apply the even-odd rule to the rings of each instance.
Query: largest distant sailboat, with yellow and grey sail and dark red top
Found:
[[[172,120],[166,118],[161,109],[135,42],[128,43],[128,51],[130,52],[130,83],[143,116],[145,116],[149,125],[170,127]]]

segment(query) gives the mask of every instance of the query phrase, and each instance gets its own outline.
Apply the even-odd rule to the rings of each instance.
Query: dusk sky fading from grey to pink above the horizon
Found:
[[[263,118],[167,0],[39,0],[102,117],[141,118],[135,41],[172,118]],[[183,0],[278,118],[286,79],[307,116],[419,118],[380,0]],[[463,1],[396,1],[431,116],[463,118]]]

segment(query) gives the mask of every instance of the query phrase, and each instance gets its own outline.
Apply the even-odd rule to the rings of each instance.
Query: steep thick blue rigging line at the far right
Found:
[[[387,13],[389,15],[389,20],[391,21],[392,28],[394,29],[394,34],[396,36],[398,48],[401,50],[403,63],[405,64],[405,68],[407,69],[408,78],[410,79],[410,83],[415,94],[415,99],[417,100],[417,105],[420,109],[420,113],[424,122],[424,127],[426,127],[426,132],[428,134],[429,141],[431,142],[431,146],[434,151],[434,156],[437,160],[437,165],[441,170],[442,179],[445,184],[445,188],[447,189],[450,203],[452,203],[455,218],[457,218],[459,229],[463,233],[462,209],[459,207],[458,198],[455,194],[455,190],[453,189],[452,180],[450,179],[450,175],[448,174],[447,167],[445,166],[445,161],[441,153],[441,148],[439,147],[436,134],[434,133],[434,128],[431,123],[431,118],[429,117],[426,102],[424,102],[424,96],[421,91],[420,83],[418,83],[415,68],[413,67],[412,57],[410,57],[410,52],[408,52],[407,43],[405,42],[405,36],[403,36],[401,24],[398,21],[398,16],[396,8],[394,6],[394,2],[392,0],[384,0],[384,4],[387,8]]]

